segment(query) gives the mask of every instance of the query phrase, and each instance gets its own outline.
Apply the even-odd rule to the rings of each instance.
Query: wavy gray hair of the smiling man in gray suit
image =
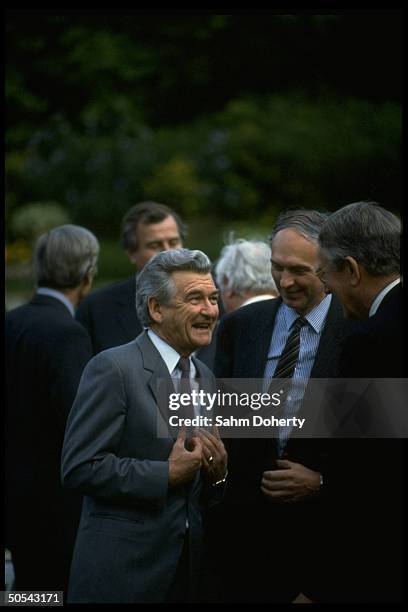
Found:
[[[136,310],[143,326],[154,323],[149,313],[149,298],[168,305],[177,293],[172,272],[198,272],[209,274],[211,261],[202,251],[174,249],[154,255],[136,277]]]

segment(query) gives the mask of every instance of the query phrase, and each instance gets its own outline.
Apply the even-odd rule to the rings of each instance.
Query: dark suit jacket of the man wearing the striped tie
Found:
[[[263,378],[268,349],[281,298],[244,306],[221,319],[217,335],[217,378]],[[311,371],[313,378],[338,372],[342,343],[349,332],[341,306],[333,297]],[[304,405],[307,406],[305,394]],[[314,409],[313,404],[309,406]],[[317,409],[317,408],[316,408]],[[303,410],[303,407],[302,409]],[[216,565],[223,574],[221,597],[225,601],[284,602],[307,592],[315,569],[310,550],[316,550],[324,529],[325,494],[303,502],[272,504],[261,492],[262,474],[275,468],[273,439],[225,440],[229,475],[225,503],[214,509]],[[325,440],[291,436],[285,457],[323,474],[327,467]],[[217,529],[218,528],[218,529]],[[242,556],[234,552],[238,537]],[[313,538],[310,536],[313,534]],[[217,552],[217,542],[223,551]],[[216,571],[221,571],[218,567]],[[225,579],[224,579],[225,578]]]

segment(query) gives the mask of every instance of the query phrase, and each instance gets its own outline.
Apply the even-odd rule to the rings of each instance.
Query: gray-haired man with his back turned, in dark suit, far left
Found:
[[[74,319],[96,272],[98,242],[75,225],[42,235],[37,291],[6,315],[6,545],[16,590],[66,591],[80,498],[60,483],[65,423],[89,336]]]

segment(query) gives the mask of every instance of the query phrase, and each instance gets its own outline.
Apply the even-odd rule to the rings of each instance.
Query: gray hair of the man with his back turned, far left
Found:
[[[34,250],[38,287],[74,289],[97,270],[99,243],[79,225],[60,225],[42,234]]]

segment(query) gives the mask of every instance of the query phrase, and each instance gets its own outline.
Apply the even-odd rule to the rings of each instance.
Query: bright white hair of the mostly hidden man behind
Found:
[[[215,266],[217,284],[237,295],[278,293],[271,274],[271,249],[261,240],[238,238],[227,244]]]

